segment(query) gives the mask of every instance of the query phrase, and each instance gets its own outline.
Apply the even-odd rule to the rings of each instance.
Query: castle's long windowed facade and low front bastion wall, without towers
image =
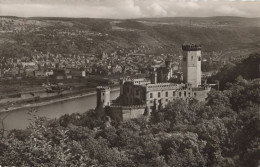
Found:
[[[138,88],[138,87],[137,87]],[[140,88],[140,87],[139,87]],[[127,105],[127,106],[109,106],[107,114],[116,121],[127,121],[130,119],[141,118],[145,114],[152,112],[154,104],[156,109],[161,105],[164,108],[170,101],[175,99],[183,99],[188,101],[191,98],[195,98],[198,101],[204,101],[207,97],[207,93],[210,88],[192,88],[191,85],[186,85],[180,89],[169,89],[164,90],[150,90],[143,92],[146,94],[146,103],[144,105]],[[166,93],[167,92],[167,93]],[[151,93],[153,96],[151,96]],[[158,97],[160,93],[160,97]]]

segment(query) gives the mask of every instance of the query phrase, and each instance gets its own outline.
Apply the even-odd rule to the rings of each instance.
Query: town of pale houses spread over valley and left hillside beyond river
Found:
[[[53,27],[53,24],[60,26]],[[180,45],[151,47],[134,43],[131,47],[118,45],[114,49],[107,49],[109,47],[101,49],[97,48],[97,43],[109,42],[111,32],[123,30],[114,30],[113,27],[109,32],[96,29],[107,28],[105,23],[102,23],[105,24],[104,26],[100,26],[101,23],[91,24],[91,27],[84,27],[84,29],[70,28],[71,24],[65,21],[55,22],[55,20],[1,17],[2,43],[16,43],[18,48],[22,46],[25,49],[15,49],[7,44],[3,46],[3,51],[0,53],[2,55],[0,80],[43,77],[62,80],[88,75],[147,75],[150,66],[163,64],[167,56],[173,59],[176,77],[182,71]],[[75,51],[75,48],[80,52]],[[203,51],[202,71],[217,71],[228,62],[234,63],[245,58],[249,51],[250,49],[226,52],[206,49]],[[232,57],[233,54],[238,53],[240,57]]]

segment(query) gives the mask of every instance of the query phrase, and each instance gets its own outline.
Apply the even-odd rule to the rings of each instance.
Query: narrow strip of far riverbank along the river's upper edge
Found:
[[[118,91],[118,90],[119,90],[119,86],[113,86],[111,88],[112,92]],[[14,110],[24,109],[24,108],[40,107],[40,106],[58,103],[58,102],[62,102],[62,101],[67,101],[67,100],[77,99],[77,98],[81,98],[81,97],[91,96],[91,95],[94,95],[94,94],[96,94],[95,89],[87,89],[87,90],[71,92],[71,93],[67,93],[67,94],[60,94],[60,95],[57,95],[57,96],[40,98],[40,99],[37,99],[37,101],[33,101],[33,102],[30,102],[30,103],[24,101],[24,102],[21,102],[21,103],[16,104],[16,105],[11,105],[8,108],[7,108],[7,106],[1,106],[0,112],[8,112],[8,111],[14,111]]]

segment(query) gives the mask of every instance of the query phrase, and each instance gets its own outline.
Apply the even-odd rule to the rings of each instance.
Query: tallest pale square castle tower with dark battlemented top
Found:
[[[201,45],[182,45],[183,81],[192,87],[201,85]]]

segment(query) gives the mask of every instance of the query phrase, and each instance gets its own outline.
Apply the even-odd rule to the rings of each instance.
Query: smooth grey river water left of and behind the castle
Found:
[[[119,90],[111,91],[111,100],[114,100],[119,96]],[[33,108],[22,108],[12,110],[8,112],[0,113],[0,121],[3,120],[4,129],[25,129],[32,121],[32,116],[28,114],[28,111],[36,110],[33,112],[37,116],[45,116],[47,118],[58,118],[64,114],[72,113],[84,113],[90,109],[96,107],[97,99],[96,94],[90,94],[88,96],[79,97],[75,99],[56,102],[44,106]],[[2,123],[0,129],[2,129]]]

